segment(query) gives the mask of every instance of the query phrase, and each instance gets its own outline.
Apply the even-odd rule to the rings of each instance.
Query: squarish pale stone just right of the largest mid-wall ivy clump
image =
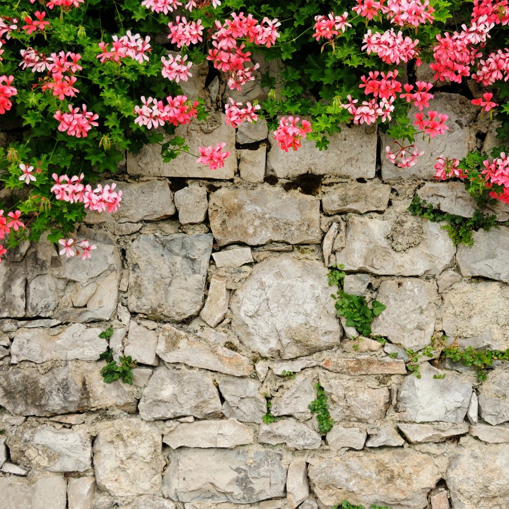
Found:
[[[380,284],[377,300],[386,308],[373,320],[373,334],[414,351],[430,344],[438,300],[434,282],[415,277],[385,280]]]

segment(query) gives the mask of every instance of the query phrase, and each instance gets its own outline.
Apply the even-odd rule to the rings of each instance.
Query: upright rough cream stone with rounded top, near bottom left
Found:
[[[161,486],[161,435],[142,420],[112,421],[94,441],[97,487],[112,495],[154,494]]]

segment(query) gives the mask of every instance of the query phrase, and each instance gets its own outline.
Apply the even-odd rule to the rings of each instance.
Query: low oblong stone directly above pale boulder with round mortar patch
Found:
[[[371,210],[384,211],[390,196],[390,186],[378,181],[365,184],[345,182],[327,189],[322,196],[325,214],[344,214],[358,212],[364,214]]]

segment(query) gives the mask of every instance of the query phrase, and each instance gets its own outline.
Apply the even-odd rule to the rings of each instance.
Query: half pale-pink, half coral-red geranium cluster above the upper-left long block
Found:
[[[188,124],[192,117],[197,116],[196,106],[198,101],[192,104],[186,96],[166,97],[167,104],[162,101],[142,96],[142,106],[134,107],[134,114],[137,115],[134,123],[139,126],[147,126],[148,129],[163,126],[166,122],[178,126]]]

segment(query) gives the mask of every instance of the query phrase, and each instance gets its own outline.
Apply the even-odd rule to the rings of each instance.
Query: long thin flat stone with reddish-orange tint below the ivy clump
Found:
[[[380,345],[380,343],[378,344]],[[403,359],[373,357],[372,355],[358,355],[352,358],[327,357],[321,366],[327,371],[345,375],[405,375],[407,372]]]

